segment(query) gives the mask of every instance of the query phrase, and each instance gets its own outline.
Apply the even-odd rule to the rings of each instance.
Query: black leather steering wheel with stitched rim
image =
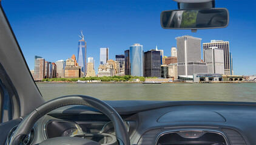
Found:
[[[115,129],[116,140],[120,145],[130,145],[130,139],[127,134],[127,129],[124,124],[124,121],[111,106],[107,103],[104,103],[101,100],[98,100],[93,97],[86,95],[67,95],[53,100],[47,101],[43,105],[39,106],[32,112],[30,112],[24,120],[21,121],[15,133],[13,134],[10,145],[19,145],[22,143],[22,140],[30,133],[32,127],[36,121],[41,118],[43,115],[53,111],[54,109],[61,108],[62,106],[68,105],[84,105],[90,106],[92,108],[98,109],[98,111],[103,112],[107,115],[110,120],[113,122]],[[78,137],[56,137],[44,140],[39,145],[54,145],[54,144],[77,144],[77,145],[98,145],[96,141],[88,140],[85,138]]]

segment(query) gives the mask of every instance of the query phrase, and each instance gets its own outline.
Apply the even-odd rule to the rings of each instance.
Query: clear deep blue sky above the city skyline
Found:
[[[83,30],[87,57],[95,59],[95,68],[101,47],[109,47],[109,58],[114,60],[133,43],[141,43],[144,51],[158,45],[165,56],[170,56],[175,37],[190,35],[202,38],[202,43],[229,41],[235,74],[256,74],[256,1],[215,2],[216,7],[229,10],[229,26],[197,33],[161,28],[161,11],[177,9],[177,2],[171,0],[2,0],[2,7],[30,69],[34,68],[35,55],[50,62],[77,56],[78,34]]]

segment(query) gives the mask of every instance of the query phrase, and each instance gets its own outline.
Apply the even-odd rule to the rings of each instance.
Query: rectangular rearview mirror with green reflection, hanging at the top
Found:
[[[161,13],[161,27],[165,29],[225,28],[229,24],[226,8],[204,10],[167,10]]]

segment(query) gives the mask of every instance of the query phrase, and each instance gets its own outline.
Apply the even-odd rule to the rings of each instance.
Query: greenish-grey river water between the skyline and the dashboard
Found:
[[[44,100],[89,95],[100,100],[254,101],[256,83],[37,83]]]

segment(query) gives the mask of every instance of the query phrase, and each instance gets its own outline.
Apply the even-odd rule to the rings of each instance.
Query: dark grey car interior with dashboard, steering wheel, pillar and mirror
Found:
[[[163,28],[197,31],[229,23],[228,10],[215,8],[215,1],[175,1],[178,10],[161,13]],[[45,102],[1,1],[0,9],[0,144],[256,144],[252,102],[102,101],[75,94]],[[181,24],[178,14],[192,10],[197,23]]]

